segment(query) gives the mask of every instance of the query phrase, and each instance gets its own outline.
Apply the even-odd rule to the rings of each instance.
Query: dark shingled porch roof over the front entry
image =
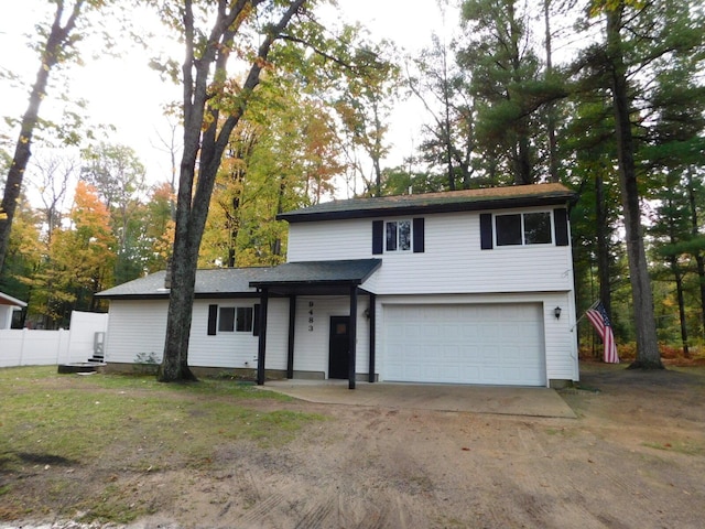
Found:
[[[362,284],[381,264],[381,259],[286,262],[262,270],[250,287],[281,295],[349,293],[351,287]]]

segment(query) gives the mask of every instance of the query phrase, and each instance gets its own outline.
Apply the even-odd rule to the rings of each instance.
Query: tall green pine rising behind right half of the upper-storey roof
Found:
[[[544,128],[538,110],[565,95],[549,79],[530,42],[528,4],[516,0],[466,0],[462,4],[466,36],[458,62],[468,72],[477,110],[475,138],[490,182],[498,173],[530,184],[540,173],[539,148]],[[499,164],[497,163],[499,161]]]

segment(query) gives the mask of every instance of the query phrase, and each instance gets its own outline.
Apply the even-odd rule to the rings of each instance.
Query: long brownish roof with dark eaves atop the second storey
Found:
[[[289,223],[305,223],[343,218],[506,209],[510,207],[565,205],[574,198],[575,193],[562,184],[512,185],[419,195],[333,201],[282,213],[276,218]]]

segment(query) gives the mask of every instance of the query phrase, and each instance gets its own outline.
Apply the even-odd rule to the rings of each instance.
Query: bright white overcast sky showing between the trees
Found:
[[[28,86],[34,79],[36,56],[25,47],[26,39],[43,10],[53,7],[43,0],[3,2],[0,17],[0,68],[17,72]],[[419,51],[431,42],[431,35],[443,32],[444,18],[436,0],[338,0],[339,8],[322,17],[346,22],[359,21],[375,37],[394,41],[408,52]],[[449,29],[457,26],[457,19],[448,17]],[[181,50],[178,51],[181,54]],[[176,56],[180,58],[180,55]],[[161,145],[160,136],[167,139],[169,121],[162,115],[162,105],[181,98],[181,88],[161,82],[159,75],[147,65],[148,56],[132,52],[119,58],[102,56],[86,61],[83,68],[72,71],[70,97],[87,100],[90,122],[112,125],[113,143],[133,148],[148,168],[150,182],[169,177],[170,156]],[[56,73],[52,73],[56,76]],[[51,95],[50,95],[51,96]],[[28,91],[8,89],[8,82],[0,79],[0,116],[20,118],[28,104]],[[42,106],[43,117],[55,118],[55,100],[50,97]],[[390,139],[394,143],[388,165],[395,165],[412,152],[421,126],[417,107],[401,105],[393,116]],[[0,125],[3,136],[15,141],[15,131]],[[3,138],[3,141],[6,139]],[[35,149],[36,152],[36,149]]]

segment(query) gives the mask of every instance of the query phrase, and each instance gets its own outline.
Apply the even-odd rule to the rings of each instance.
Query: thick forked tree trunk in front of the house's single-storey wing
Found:
[[[225,75],[239,24],[245,20],[243,10],[249,2],[239,2],[229,11],[218,10],[209,42],[203,56],[196,57],[196,29],[194,26],[193,3],[186,0],[183,9],[185,29],[186,60],[182,72],[184,76],[184,151],[180,168],[178,195],[176,203],[176,229],[172,255],[172,288],[169,298],[166,337],[164,355],[158,373],[158,380],[195,380],[188,367],[188,338],[193,314],[198,248],[208,216],[208,206],[216,174],[220,168],[223,153],[228,145],[230,134],[245,111],[248,97],[259,84],[260,72],[267,64],[267,57],[275,39],[286,28],[292,17],[306,3],[306,0],[292,0],[276,24],[268,28],[257,52],[254,61],[243,83],[239,107],[221,121],[218,106],[209,106],[214,94],[208,86],[215,76]],[[237,22],[240,20],[240,22]],[[194,78],[195,74],[195,78]],[[209,125],[204,130],[204,117],[208,115]],[[196,164],[196,161],[198,163]],[[198,179],[196,180],[196,166]],[[195,192],[194,192],[195,185]]]

